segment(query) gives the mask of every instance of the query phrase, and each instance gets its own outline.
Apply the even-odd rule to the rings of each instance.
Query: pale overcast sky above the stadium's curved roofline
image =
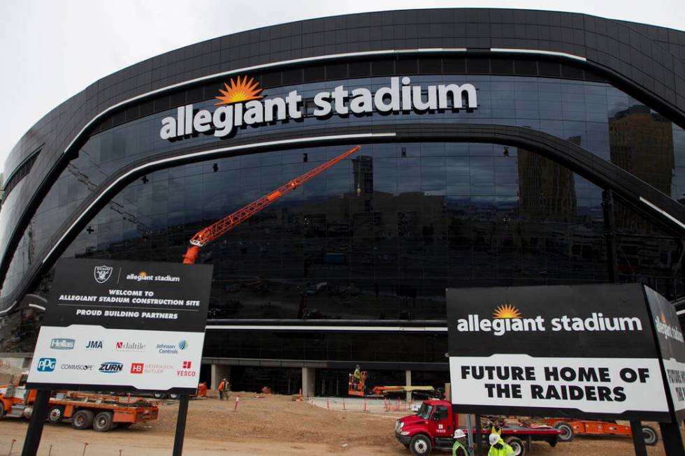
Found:
[[[12,147],[43,115],[138,61],[282,22],[444,7],[573,11],[685,30],[684,0],[0,0],[0,171]]]

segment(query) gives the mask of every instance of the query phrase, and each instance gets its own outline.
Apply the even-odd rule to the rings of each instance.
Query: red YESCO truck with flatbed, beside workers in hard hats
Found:
[[[512,447],[516,456],[524,456],[526,443],[530,447],[531,441],[546,441],[556,446],[560,433],[558,429],[547,425],[507,424],[500,429],[502,438]],[[459,418],[452,411],[452,404],[440,399],[425,401],[416,415],[405,416],[395,423],[395,438],[415,456],[430,455],[433,448],[452,450],[455,432],[463,436],[461,431],[463,429],[459,429]],[[490,431],[491,427],[487,425],[482,429],[484,444]]]

